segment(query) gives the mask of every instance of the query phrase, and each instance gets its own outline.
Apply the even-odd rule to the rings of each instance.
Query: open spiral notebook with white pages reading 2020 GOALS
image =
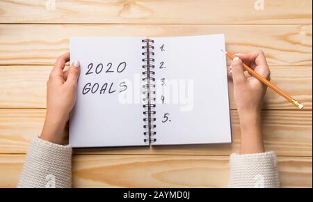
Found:
[[[230,143],[223,34],[74,37],[73,147]]]

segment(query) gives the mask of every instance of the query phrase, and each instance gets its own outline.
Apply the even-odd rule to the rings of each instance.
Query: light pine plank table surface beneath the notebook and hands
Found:
[[[0,187],[17,185],[45,118],[47,76],[71,36],[211,33],[225,33],[232,53],[264,50],[272,81],[305,104],[299,111],[268,90],[263,130],[282,186],[312,187],[312,0],[263,2],[0,1]],[[230,100],[234,143],[74,150],[73,186],[227,187],[229,155],[240,143]]]

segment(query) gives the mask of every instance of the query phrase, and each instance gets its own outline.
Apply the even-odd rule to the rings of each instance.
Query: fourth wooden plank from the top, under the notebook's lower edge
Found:
[[[232,116],[232,144],[91,148],[75,150],[81,154],[122,155],[230,155],[240,146],[239,117]],[[273,111],[262,113],[266,150],[278,155],[312,156],[312,112]],[[26,153],[29,141],[41,132],[45,109],[0,109],[0,153]]]

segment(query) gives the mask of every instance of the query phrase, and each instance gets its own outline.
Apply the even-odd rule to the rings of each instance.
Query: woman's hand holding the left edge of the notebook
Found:
[[[65,145],[68,134],[65,125],[70,118],[77,97],[77,80],[80,72],[79,61],[64,70],[70,61],[67,52],[58,57],[47,81],[47,114],[40,138],[52,143]]]

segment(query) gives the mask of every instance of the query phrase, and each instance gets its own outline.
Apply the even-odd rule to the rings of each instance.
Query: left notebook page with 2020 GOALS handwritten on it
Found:
[[[78,60],[81,63],[81,74],[78,81],[77,102],[70,118],[70,144],[73,147],[104,147],[104,146],[142,146],[143,139],[143,105],[134,95],[140,93],[135,79],[141,79],[143,38],[72,38],[70,41],[71,62]],[[124,71],[124,63],[126,68]],[[88,65],[93,63],[93,68],[88,74]],[[97,69],[97,64],[104,65],[102,72]],[[112,67],[108,70],[108,63]],[[117,72],[118,65],[122,63]],[[101,67],[101,65],[99,66]],[[139,78],[138,78],[139,77]],[[122,93],[134,95],[129,104],[120,102],[119,93],[125,87],[120,87],[120,81],[128,79],[128,88]],[[83,95],[83,88],[88,82],[91,87],[99,84],[96,93]],[[113,82],[112,91],[109,87]],[[104,94],[99,90],[108,83]],[[97,84],[94,91],[97,88]],[[136,88],[136,89],[134,89]],[[86,92],[86,91],[85,91]],[[103,93],[103,91],[102,91]],[[136,99],[135,99],[136,97]],[[127,97],[129,98],[129,97]],[[136,100],[136,101],[135,101]]]

